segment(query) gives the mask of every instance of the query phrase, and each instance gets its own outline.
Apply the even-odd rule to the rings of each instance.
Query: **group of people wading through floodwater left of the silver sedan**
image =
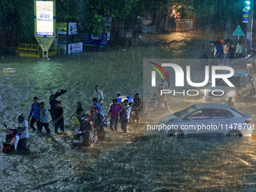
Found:
[[[99,90],[99,86],[95,86],[95,93],[94,98],[92,99],[92,105],[90,106],[90,111],[88,114],[85,113],[84,108],[82,107],[81,102],[77,103],[77,108],[70,120],[73,120],[73,128],[78,129],[84,124],[90,125],[91,130],[96,130],[96,134],[99,139],[105,138],[105,131],[104,131],[104,121],[107,120],[107,117],[111,117],[110,120],[110,129],[112,131],[117,131],[117,123],[120,120],[121,130],[123,133],[126,133],[126,126],[128,125],[128,121],[130,119],[130,111],[131,106],[129,105],[129,100],[125,99],[123,101],[123,105],[120,105],[117,102],[117,99],[113,99],[113,104],[108,110],[108,114],[105,116],[102,113],[102,103],[103,103],[103,93]],[[20,136],[17,136],[17,143],[19,139],[23,139],[23,148],[26,149],[26,141],[29,138],[29,126],[32,128],[32,133],[41,133],[43,127],[46,130],[47,134],[50,134],[49,123],[53,121],[54,123],[54,131],[56,134],[59,134],[59,129],[61,133],[65,133],[64,130],[64,112],[61,106],[61,102],[57,100],[58,97],[54,97],[50,99],[50,109],[48,110],[44,102],[38,102],[38,97],[35,96],[33,98],[33,103],[30,109],[29,117],[26,120],[23,114],[20,114],[18,117],[18,121],[20,123]],[[136,114],[138,114],[141,106],[137,106],[138,102],[142,102],[139,99],[139,93],[135,96],[135,107],[136,107]],[[49,112],[52,120],[49,120]],[[139,114],[138,114],[139,116]],[[120,117],[120,118],[119,118]],[[75,119],[78,120],[78,123],[74,124]],[[139,120],[139,119],[138,119]],[[29,123],[28,123],[29,122]],[[37,129],[35,128],[35,123]],[[114,129],[113,129],[114,126]],[[17,149],[17,143],[15,145],[15,150]]]

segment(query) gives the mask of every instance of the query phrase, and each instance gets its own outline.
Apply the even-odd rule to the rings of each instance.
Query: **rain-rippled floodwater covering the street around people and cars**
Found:
[[[185,137],[148,135],[142,125],[128,126],[128,133],[111,133],[93,148],[71,149],[76,102],[90,108],[96,84],[105,99],[103,112],[118,92],[142,93],[142,59],[197,58],[209,42],[221,38],[204,32],[173,32],[142,35],[136,46],[88,50],[50,59],[5,56],[0,75],[0,138],[2,124],[17,126],[17,115],[29,115],[33,96],[48,105],[50,93],[64,89],[67,136],[31,133],[30,154],[0,155],[1,191],[254,191],[256,188],[256,136],[250,138]],[[170,112],[194,102],[172,101]],[[253,114],[254,99],[237,105]],[[160,114],[157,115],[157,118]],[[120,127],[118,128],[120,130]],[[255,131],[254,131],[255,133]]]

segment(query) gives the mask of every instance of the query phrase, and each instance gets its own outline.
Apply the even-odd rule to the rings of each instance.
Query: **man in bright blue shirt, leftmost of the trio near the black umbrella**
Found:
[[[34,126],[34,123],[36,122],[36,127],[37,128],[39,128],[39,126],[40,126],[40,123],[39,123],[39,119],[40,119],[40,105],[39,105],[38,97],[37,96],[34,96],[33,99],[34,99],[34,103],[31,106],[31,110],[30,110],[30,113],[29,113],[28,121],[30,120],[30,117],[32,116],[32,119],[31,119],[31,121],[29,123],[29,126],[33,129],[33,133],[34,133],[35,130],[36,130],[35,126]],[[38,130],[38,133],[39,133],[39,130]]]

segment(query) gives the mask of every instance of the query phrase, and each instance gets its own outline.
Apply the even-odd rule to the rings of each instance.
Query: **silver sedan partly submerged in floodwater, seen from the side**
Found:
[[[219,103],[199,103],[163,116],[158,129],[167,135],[251,136],[251,114]]]

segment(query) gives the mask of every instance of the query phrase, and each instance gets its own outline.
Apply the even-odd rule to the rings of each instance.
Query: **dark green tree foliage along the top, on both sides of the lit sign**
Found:
[[[81,23],[83,33],[98,35],[105,30],[102,15],[133,26],[138,23],[138,16],[148,12],[165,17],[172,5],[181,6],[201,20],[223,25],[225,20],[241,19],[244,6],[239,0],[56,0],[56,21]],[[0,26],[17,32],[17,39],[35,42],[34,1],[2,0],[0,6]]]

